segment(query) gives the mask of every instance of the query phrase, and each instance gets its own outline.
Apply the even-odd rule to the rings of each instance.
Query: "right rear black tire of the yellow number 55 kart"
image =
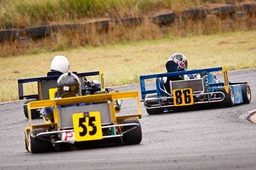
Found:
[[[132,129],[132,131],[126,132],[123,136],[123,142],[125,145],[135,145],[139,144],[142,139],[141,125],[138,118],[126,119],[123,121],[123,124],[131,124],[136,123],[139,124],[139,127],[136,129]],[[124,126],[123,132],[131,129],[131,126]]]

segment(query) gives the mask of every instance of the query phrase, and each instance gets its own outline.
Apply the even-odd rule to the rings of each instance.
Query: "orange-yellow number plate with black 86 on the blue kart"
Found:
[[[192,89],[173,90],[173,101],[175,106],[185,106],[194,104]]]

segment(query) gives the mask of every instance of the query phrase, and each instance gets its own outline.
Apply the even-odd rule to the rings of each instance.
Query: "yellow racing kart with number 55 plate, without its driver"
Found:
[[[134,110],[122,113],[115,106],[118,99],[123,103],[127,101],[129,108],[134,101],[136,113]],[[47,118],[32,121],[31,110],[50,107],[53,109],[52,121]],[[24,132],[26,150],[42,153],[67,149],[70,145],[86,146],[93,141],[103,143],[104,139],[125,145],[139,144],[142,134],[138,118],[141,118],[138,91],[31,101],[28,103],[29,126]]]

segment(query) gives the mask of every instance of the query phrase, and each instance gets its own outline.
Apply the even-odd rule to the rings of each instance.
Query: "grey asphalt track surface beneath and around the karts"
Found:
[[[228,74],[232,82],[248,81],[250,104],[147,115],[141,103],[140,145],[28,153],[22,101],[1,103],[0,169],[256,169],[256,124],[246,120],[256,108],[256,69]],[[117,87],[120,91],[139,88]],[[124,104],[122,110],[133,108]]]

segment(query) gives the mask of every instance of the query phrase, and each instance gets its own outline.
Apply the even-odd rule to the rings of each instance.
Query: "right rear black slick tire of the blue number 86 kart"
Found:
[[[221,108],[228,108],[228,107],[232,107],[235,105],[234,91],[231,87],[229,87],[229,89],[228,89],[228,94],[225,91],[224,87],[221,87],[220,89],[218,89],[218,92],[223,92],[223,94],[225,94],[225,97],[224,97],[223,101],[217,103],[217,106],[219,106]],[[217,95],[217,97],[218,97],[218,95]]]

